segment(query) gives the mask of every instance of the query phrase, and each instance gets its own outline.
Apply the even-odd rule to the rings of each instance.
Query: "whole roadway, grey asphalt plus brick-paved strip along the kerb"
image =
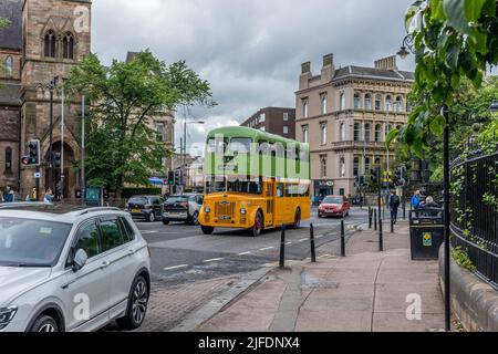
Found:
[[[351,229],[365,220],[366,210],[354,209],[345,223]],[[318,219],[313,212],[301,229],[287,231],[288,260],[309,257],[310,222],[317,230],[317,247],[323,247],[318,256],[339,252],[339,242],[334,241],[340,237],[341,219]],[[199,227],[185,223],[137,222],[137,226],[149,243],[153,271],[148,312],[139,331],[169,331],[177,325],[177,330],[189,329],[185,321],[195,323],[207,314],[211,316],[215,312],[209,311],[219,310],[217,305],[228,303],[259,279],[252,279],[255,273],[267,272],[279,259],[279,230],[252,238],[240,230],[205,236]],[[203,310],[206,306],[209,311]],[[105,330],[114,329],[110,325]]]

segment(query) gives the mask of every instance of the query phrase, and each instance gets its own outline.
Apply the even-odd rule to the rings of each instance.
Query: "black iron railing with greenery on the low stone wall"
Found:
[[[452,244],[498,290],[498,152],[474,150],[452,164]]]

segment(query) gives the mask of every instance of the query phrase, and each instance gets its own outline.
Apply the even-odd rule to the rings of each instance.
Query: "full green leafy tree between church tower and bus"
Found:
[[[121,197],[124,184],[146,185],[167,152],[148,123],[179,105],[214,105],[209,83],[185,61],[166,65],[148,52],[129,62],[102,65],[90,54],[72,69],[68,90],[91,102],[86,121],[85,175],[89,185]]]

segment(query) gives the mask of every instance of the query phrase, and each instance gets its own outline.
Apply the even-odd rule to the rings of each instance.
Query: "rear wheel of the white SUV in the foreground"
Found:
[[[145,278],[138,275],[133,282],[128,295],[126,314],[116,320],[122,330],[138,329],[145,320],[148,303],[148,287]]]

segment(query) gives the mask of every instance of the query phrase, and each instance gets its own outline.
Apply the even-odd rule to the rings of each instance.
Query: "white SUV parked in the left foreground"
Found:
[[[151,254],[114,208],[0,205],[0,332],[142,325]]]

